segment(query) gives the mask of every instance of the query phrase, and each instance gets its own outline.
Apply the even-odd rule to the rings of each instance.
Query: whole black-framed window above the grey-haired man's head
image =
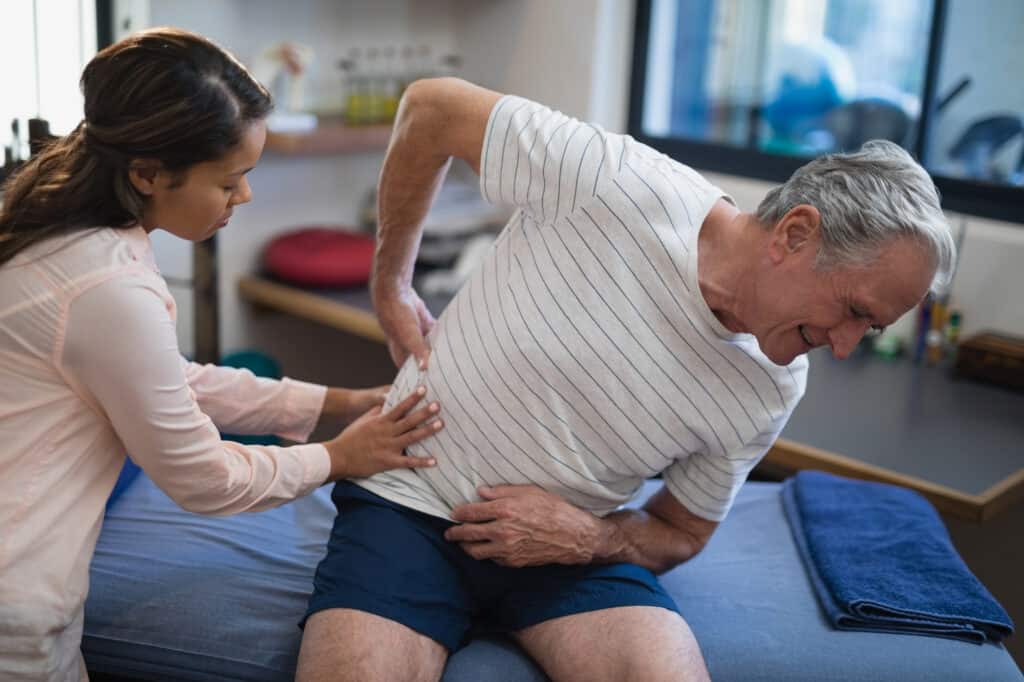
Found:
[[[1024,222],[1021,0],[638,0],[630,132],[784,180],[896,141],[952,210]]]

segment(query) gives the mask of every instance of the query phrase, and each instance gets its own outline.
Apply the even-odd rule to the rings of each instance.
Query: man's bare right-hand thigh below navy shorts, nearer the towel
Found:
[[[665,608],[625,606],[553,619],[516,633],[556,682],[708,682],[686,622]]]

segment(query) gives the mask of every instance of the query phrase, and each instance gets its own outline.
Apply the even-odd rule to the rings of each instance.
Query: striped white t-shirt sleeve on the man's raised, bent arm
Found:
[[[487,120],[480,191],[548,223],[598,195],[621,171],[627,138],[506,95]]]

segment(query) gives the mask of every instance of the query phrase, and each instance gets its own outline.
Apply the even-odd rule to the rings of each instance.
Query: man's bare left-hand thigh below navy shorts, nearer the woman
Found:
[[[436,682],[447,649],[400,623],[349,608],[306,621],[296,682]]]

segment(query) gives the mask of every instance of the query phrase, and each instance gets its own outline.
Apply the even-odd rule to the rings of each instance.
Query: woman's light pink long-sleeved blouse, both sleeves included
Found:
[[[305,441],[326,388],[187,363],[174,319],[140,227],[57,238],[0,266],[0,679],[85,679],[89,560],[126,454],[202,514],[327,479],[321,444],[217,430]]]

